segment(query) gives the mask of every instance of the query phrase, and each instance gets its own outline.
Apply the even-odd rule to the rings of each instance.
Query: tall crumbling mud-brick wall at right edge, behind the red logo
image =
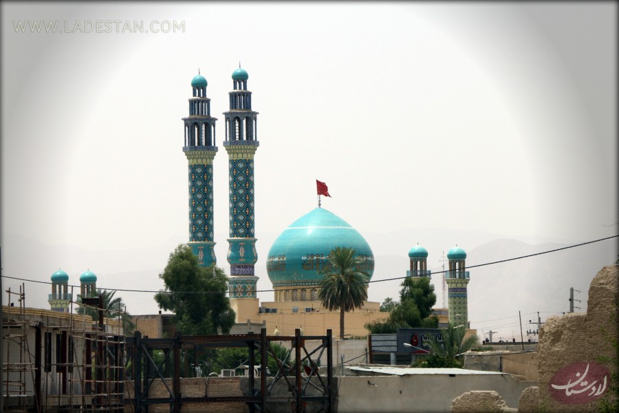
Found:
[[[597,412],[617,371],[619,266],[605,266],[591,281],[587,313],[550,317],[539,337],[539,410]],[[616,383],[615,383],[616,385]]]

